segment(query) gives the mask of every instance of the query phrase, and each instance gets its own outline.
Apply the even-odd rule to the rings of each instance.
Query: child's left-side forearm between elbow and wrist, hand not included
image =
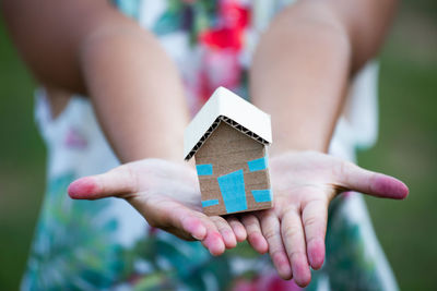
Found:
[[[184,90],[151,34],[130,25],[104,27],[82,47],[80,60],[101,125],[122,161],[181,160]]]

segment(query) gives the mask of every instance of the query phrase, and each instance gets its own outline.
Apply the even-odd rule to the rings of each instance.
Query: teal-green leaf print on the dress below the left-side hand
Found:
[[[220,289],[229,283],[226,257],[212,258],[199,242],[153,230],[133,246],[117,243],[116,217],[105,213],[110,199],[71,199],[66,190],[74,179],[70,173],[49,181],[24,284],[44,290],[126,284],[138,290],[204,290],[206,282]]]

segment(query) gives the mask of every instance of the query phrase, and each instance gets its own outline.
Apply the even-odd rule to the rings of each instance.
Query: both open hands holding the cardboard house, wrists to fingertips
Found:
[[[309,266],[324,259],[329,203],[344,190],[404,198],[406,186],[394,178],[370,172],[320,153],[288,153],[270,162],[272,209],[224,218],[201,211],[197,175],[187,165],[145,159],[107,173],[82,178],[69,187],[73,198],[127,199],[147,222],[182,239],[196,238],[214,255],[248,235],[260,253],[269,251],[284,279],[310,281]],[[241,222],[243,225],[241,225]]]

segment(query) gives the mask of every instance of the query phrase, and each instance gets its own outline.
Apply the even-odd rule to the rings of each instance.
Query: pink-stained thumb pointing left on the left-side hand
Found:
[[[73,199],[99,199],[137,192],[137,179],[128,166],[73,181],[68,194]]]

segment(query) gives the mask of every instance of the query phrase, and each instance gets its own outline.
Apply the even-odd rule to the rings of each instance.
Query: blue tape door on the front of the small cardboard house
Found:
[[[220,191],[225,203],[226,213],[247,210],[245,179],[243,170],[217,178]]]

